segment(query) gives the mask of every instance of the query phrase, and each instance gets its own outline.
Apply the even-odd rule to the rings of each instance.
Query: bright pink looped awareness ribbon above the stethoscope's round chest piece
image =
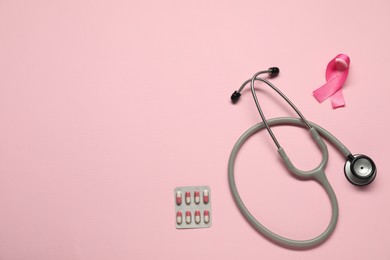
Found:
[[[351,60],[345,54],[339,54],[326,67],[326,83],[313,91],[319,103],[330,98],[333,108],[345,106],[342,87],[348,77]]]

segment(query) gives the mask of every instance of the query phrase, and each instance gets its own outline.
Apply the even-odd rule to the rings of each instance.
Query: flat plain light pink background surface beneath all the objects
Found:
[[[0,0],[0,259],[390,259],[390,2]],[[339,53],[351,58],[346,107],[312,91]],[[258,234],[227,180],[234,143],[260,121],[256,71],[378,176],[344,177],[329,147],[340,217],[321,246],[294,251]],[[259,85],[268,117],[295,116]],[[303,129],[278,127],[303,169],[320,153]],[[387,162],[386,162],[387,161]],[[237,159],[252,213],[291,238],[321,233],[324,191],[280,164],[266,132]],[[173,190],[208,185],[213,226],[176,230]]]

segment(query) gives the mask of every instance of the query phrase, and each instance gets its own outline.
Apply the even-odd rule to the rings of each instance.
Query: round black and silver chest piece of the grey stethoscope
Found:
[[[345,162],[344,173],[352,184],[365,186],[375,179],[376,166],[374,161],[366,155],[350,155]]]

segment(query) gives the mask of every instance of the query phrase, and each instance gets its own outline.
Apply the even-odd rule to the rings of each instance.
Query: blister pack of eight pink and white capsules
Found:
[[[207,228],[211,226],[210,187],[175,188],[176,228]]]

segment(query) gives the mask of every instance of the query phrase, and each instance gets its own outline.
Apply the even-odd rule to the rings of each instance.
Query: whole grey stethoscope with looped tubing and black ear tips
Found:
[[[236,201],[236,204],[238,208],[240,209],[241,213],[244,215],[244,217],[248,220],[248,222],[261,234],[263,234],[266,238],[269,240],[290,248],[296,248],[296,249],[304,249],[304,248],[311,248],[316,245],[319,245],[323,241],[325,241],[332,231],[334,230],[337,219],[338,219],[338,203],[336,195],[333,191],[332,186],[330,185],[328,179],[325,175],[325,166],[328,161],[328,149],[323,141],[322,137],[325,138],[327,141],[329,141],[331,144],[333,144],[347,159],[345,165],[344,165],[344,173],[347,179],[354,185],[358,186],[364,186],[369,183],[371,183],[376,176],[376,166],[375,163],[371,158],[369,158],[366,155],[362,154],[355,154],[352,155],[352,153],[348,150],[347,147],[345,147],[336,137],[334,137],[331,133],[329,133],[324,128],[309,122],[305,119],[305,117],[302,115],[302,113],[298,110],[298,108],[278,89],[276,88],[271,82],[264,78],[258,78],[260,74],[268,73],[269,76],[275,77],[279,74],[279,69],[276,67],[269,68],[268,70],[263,70],[257,72],[251,79],[248,79],[245,81],[240,89],[238,91],[235,91],[232,96],[231,100],[233,103],[236,103],[239,97],[241,96],[241,91],[243,88],[250,83],[250,88],[252,91],[253,99],[256,103],[257,110],[259,111],[259,114],[261,116],[262,122],[259,124],[254,125],[253,127],[249,128],[236,142],[236,144],[233,147],[233,150],[230,154],[229,158],[229,164],[228,164],[228,175],[229,175],[229,185],[231,192],[233,194],[233,198]],[[254,83],[256,80],[262,81],[266,83],[268,86],[270,86],[273,90],[275,90],[298,114],[299,118],[292,118],[292,117],[280,117],[280,118],[273,118],[273,119],[266,119],[264,116],[264,113],[260,107],[259,101],[257,99],[257,95],[254,88]],[[276,139],[273,131],[271,130],[271,126],[277,126],[277,125],[291,125],[291,126],[300,126],[300,127],[306,127],[311,137],[314,139],[316,144],[318,145],[319,149],[322,153],[322,161],[321,163],[315,167],[314,169],[310,171],[302,171],[300,169],[297,169],[294,164],[290,161],[288,158],[286,152],[284,149],[280,146],[278,140]],[[249,212],[249,210],[245,207],[243,201],[240,198],[240,195],[237,191],[236,183],[234,180],[234,163],[236,160],[236,156],[238,151],[240,150],[241,146],[248,140],[249,137],[251,137],[253,134],[263,130],[267,129],[268,133],[270,134],[273,142],[275,143],[278,153],[284,162],[287,169],[295,174],[298,178],[302,180],[315,180],[317,181],[326,191],[328,194],[328,197],[331,202],[332,206],[332,216],[330,223],[328,227],[325,229],[325,231],[320,234],[319,236],[308,239],[308,240],[293,240],[289,238],[285,238],[283,236],[280,236],[278,234],[275,234],[274,232],[267,229],[265,226],[263,226],[259,221],[256,220],[256,218]]]

